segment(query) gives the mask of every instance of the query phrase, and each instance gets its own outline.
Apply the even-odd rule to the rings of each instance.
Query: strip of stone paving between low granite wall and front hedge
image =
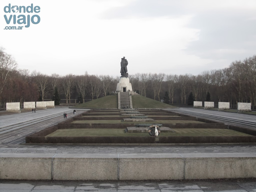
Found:
[[[255,153],[255,145],[210,146],[81,146],[81,145],[18,145],[1,147],[0,153],[44,154],[146,154],[146,153]]]

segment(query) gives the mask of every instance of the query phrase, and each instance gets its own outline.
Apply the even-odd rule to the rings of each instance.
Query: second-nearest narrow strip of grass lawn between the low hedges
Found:
[[[122,120],[81,120],[81,121],[73,121],[72,123],[109,123],[109,124],[141,124],[141,123],[153,123],[153,124],[176,124],[176,123],[196,123],[202,124],[204,122],[201,121],[186,121],[186,120],[156,120],[152,122],[122,122]]]

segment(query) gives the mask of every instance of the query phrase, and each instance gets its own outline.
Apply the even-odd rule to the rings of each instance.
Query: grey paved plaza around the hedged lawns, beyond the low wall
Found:
[[[76,109],[76,115],[89,109]],[[205,114],[220,115],[222,117],[241,119],[255,122],[254,115],[209,111],[193,108],[170,109],[171,111],[196,111]],[[40,110],[37,113],[18,113],[0,116],[0,153],[255,153],[254,144],[246,145],[180,145],[180,146],[107,146],[107,145],[34,145],[26,144],[25,137],[46,127],[62,122],[63,113],[68,114],[67,119],[72,118],[73,109],[68,107]],[[199,117],[199,116],[198,116]],[[201,118],[201,116],[199,117]],[[209,118],[208,118],[209,119]],[[215,120],[216,121],[216,120]],[[225,121],[218,121],[225,122]],[[235,124],[235,123],[232,123]],[[238,125],[238,124],[237,124]],[[13,126],[15,130],[1,134],[2,127]],[[241,125],[239,125],[241,126]],[[21,127],[21,128],[19,128]],[[255,127],[245,126],[251,129]]]

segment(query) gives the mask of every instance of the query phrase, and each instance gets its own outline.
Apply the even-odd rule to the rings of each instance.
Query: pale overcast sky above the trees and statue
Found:
[[[40,12],[5,13],[9,3]],[[129,74],[199,74],[256,54],[255,0],[1,0],[0,8],[0,46],[30,72],[120,76],[125,56]],[[40,22],[4,29],[25,26],[4,18],[21,14]]]

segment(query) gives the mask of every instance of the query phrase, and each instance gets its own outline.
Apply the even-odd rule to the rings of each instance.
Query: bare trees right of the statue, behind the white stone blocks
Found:
[[[256,105],[256,55],[234,61],[224,69],[204,71],[198,75],[136,73],[130,76],[133,90],[160,101],[168,91],[171,103],[186,103],[190,92],[196,101],[204,101],[207,92],[212,101],[251,102]]]

